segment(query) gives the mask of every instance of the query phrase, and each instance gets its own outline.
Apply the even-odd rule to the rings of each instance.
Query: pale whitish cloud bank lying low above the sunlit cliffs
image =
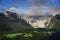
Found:
[[[49,7],[33,6],[29,10],[23,12],[25,15],[55,15],[58,12]]]

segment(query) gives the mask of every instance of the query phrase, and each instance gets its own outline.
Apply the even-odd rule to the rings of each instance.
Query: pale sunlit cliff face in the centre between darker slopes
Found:
[[[21,18],[26,20],[33,28],[47,28],[52,16],[23,16]]]

